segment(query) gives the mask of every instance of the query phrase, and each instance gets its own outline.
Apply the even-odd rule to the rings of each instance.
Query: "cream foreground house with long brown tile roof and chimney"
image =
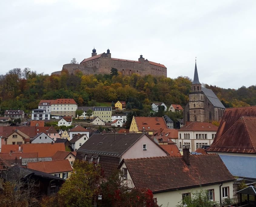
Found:
[[[209,170],[209,163],[218,167]],[[129,187],[150,189],[162,206],[175,207],[200,190],[207,190],[209,199],[219,203],[233,197],[235,179],[216,154],[191,156],[187,151],[183,156],[124,159],[118,169]],[[161,179],[159,172],[164,172]]]

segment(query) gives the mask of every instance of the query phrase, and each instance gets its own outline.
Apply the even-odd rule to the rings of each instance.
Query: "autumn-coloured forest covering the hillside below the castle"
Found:
[[[222,101],[225,107],[256,105],[256,86],[238,90],[224,89],[204,84]],[[132,74],[124,76],[112,70],[110,74],[73,75],[62,71],[61,75],[38,74],[30,68],[14,68],[0,75],[1,110],[22,109],[29,113],[38,107],[41,99],[73,98],[78,106],[97,106],[101,102],[129,102],[137,114],[150,113],[151,103],[162,101],[167,106],[181,104],[185,107],[191,89],[188,77],[154,77]]]

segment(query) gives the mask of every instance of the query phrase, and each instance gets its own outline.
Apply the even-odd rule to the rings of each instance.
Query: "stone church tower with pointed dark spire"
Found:
[[[187,112],[189,121],[203,122],[204,120],[204,93],[202,85],[199,82],[198,72],[195,62],[194,80],[191,84],[191,93],[189,94],[189,111]]]

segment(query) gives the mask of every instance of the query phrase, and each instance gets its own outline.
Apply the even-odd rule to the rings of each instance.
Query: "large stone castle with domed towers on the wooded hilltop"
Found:
[[[131,75],[133,73],[141,76],[154,75],[167,77],[167,68],[160,63],[145,60],[140,55],[138,61],[112,58],[110,50],[107,53],[97,54],[94,48],[91,57],[85,58],[80,64],[64,64],[62,70],[67,70],[69,74],[79,70],[83,74],[109,74],[111,68],[118,69],[123,75]],[[61,71],[52,74],[61,74]]]

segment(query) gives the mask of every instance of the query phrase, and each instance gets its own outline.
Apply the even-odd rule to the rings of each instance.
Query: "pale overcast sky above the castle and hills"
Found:
[[[111,57],[164,64],[167,76],[238,89],[255,85],[256,1],[1,0],[0,74],[61,71]]]

